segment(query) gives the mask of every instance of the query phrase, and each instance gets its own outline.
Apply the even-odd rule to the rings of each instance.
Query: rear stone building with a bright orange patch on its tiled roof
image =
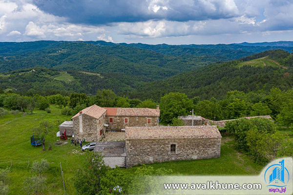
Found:
[[[126,127],[151,127],[159,124],[159,107],[151,108],[105,108],[107,128],[111,130]]]

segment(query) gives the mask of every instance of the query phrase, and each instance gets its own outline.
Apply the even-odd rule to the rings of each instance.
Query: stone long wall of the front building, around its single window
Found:
[[[176,144],[176,153],[170,152]],[[220,157],[221,138],[126,140],[126,167],[172,160]]]

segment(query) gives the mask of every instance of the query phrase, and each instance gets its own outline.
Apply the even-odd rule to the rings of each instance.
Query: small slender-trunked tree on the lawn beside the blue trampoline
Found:
[[[34,128],[35,137],[42,142],[42,148],[45,150],[45,138],[54,130],[54,125],[47,120],[40,122],[38,127]],[[50,149],[50,148],[49,148]]]

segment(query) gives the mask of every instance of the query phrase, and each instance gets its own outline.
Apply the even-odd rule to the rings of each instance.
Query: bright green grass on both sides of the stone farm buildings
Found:
[[[37,110],[33,114],[16,118],[13,115],[6,115],[0,118],[0,168],[11,166],[9,174],[10,194],[23,194],[23,181],[26,176],[32,176],[30,166],[34,160],[46,158],[50,162],[50,169],[45,173],[47,177],[47,191],[45,194],[63,194],[63,183],[60,170],[62,163],[66,194],[75,194],[72,178],[76,170],[81,167],[83,153],[77,146],[70,143],[53,145],[51,151],[43,151],[41,147],[33,147],[30,144],[30,137],[33,134],[32,128],[38,126],[43,119],[56,124],[58,131],[58,120],[70,120],[70,117],[61,115],[61,109],[51,106],[51,114]],[[57,137],[54,137],[57,140]],[[223,138],[221,157],[203,160],[174,161],[156,163],[147,166],[155,168],[165,167],[172,169],[174,174],[182,175],[257,175],[262,166],[255,164],[248,156],[238,153],[233,149],[234,141],[230,137]],[[28,167],[28,161],[30,166]],[[125,169],[133,173],[137,167]]]

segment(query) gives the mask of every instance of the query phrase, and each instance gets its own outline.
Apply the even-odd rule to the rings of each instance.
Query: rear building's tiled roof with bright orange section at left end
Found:
[[[107,116],[159,117],[160,110],[152,108],[105,108]]]

